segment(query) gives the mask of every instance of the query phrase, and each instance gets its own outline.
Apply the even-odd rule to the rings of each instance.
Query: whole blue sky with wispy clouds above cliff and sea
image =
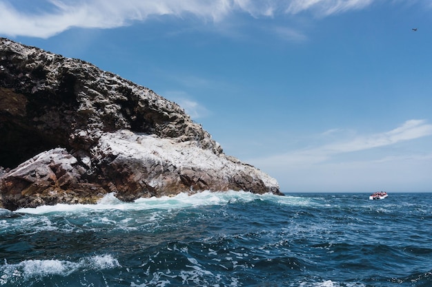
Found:
[[[0,0],[0,36],[179,103],[284,192],[432,191],[430,0]]]

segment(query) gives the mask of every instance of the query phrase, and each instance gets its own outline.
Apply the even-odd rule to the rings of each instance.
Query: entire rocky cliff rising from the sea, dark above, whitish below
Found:
[[[0,207],[203,190],[281,194],[181,107],[94,65],[0,38]]]

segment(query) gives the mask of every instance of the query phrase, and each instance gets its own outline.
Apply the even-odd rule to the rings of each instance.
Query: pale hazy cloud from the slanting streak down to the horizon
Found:
[[[328,145],[246,160],[275,177],[282,191],[430,191],[432,178],[432,125],[425,120],[405,123],[378,134],[352,136],[331,129],[328,136],[340,138]],[[423,149],[395,147],[397,143],[424,138]],[[419,143],[419,142],[418,142]],[[388,147],[388,148],[386,148]],[[428,190],[429,189],[429,190]]]

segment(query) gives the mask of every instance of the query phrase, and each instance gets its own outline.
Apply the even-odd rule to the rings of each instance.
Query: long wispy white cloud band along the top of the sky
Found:
[[[0,0],[0,34],[48,38],[72,27],[115,28],[162,15],[179,18],[192,15],[215,23],[235,13],[276,17],[312,11],[328,16],[366,8],[373,1],[377,0],[46,0],[38,1],[38,10],[23,12],[19,3]],[[302,36],[289,29],[279,32]]]

